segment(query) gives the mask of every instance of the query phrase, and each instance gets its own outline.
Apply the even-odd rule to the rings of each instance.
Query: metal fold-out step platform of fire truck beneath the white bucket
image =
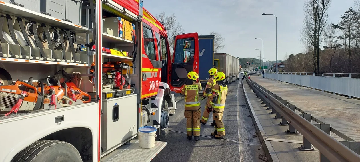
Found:
[[[101,159],[101,162],[149,162],[164,147],[166,142],[155,142],[155,147],[144,149],[139,146],[139,140],[131,140],[129,145],[123,145]]]

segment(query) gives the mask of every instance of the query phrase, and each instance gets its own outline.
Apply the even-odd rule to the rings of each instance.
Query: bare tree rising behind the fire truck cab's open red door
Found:
[[[170,46],[171,55],[174,53],[174,36],[177,36],[184,32],[183,26],[176,22],[175,14],[166,15],[165,12],[161,12],[155,16],[156,19],[164,23],[167,33],[167,41]],[[164,45],[165,43],[161,43]]]

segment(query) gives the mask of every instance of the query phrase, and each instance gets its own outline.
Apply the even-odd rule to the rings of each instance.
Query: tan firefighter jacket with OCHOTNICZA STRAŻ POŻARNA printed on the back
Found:
[[[200,109],[199,91],[201,91],[201,84],[193,81],[181,88],[181,93],[185,95],[185,110]]]

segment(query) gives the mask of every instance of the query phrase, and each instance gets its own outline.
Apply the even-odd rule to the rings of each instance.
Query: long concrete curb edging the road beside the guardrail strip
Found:
[[[267,156],[267,159],[269,160],[269,162],[280,162],[278,156],[276,155],[276,152],[274,151],[273,145],[271,145],[270,141],[267,141],[267,135],[264,131],[264,129],[262,128],[259,119],[257,118],[254,108],[252,107],[249,97],[246,94],[246,90],[243,84],[243,80],[242,80],[242,87],[243,87],[243,92],[245,94],[246,97],[246,103],[247,106],[250,110],[250,114],[251,114],[251,119],[254,122],[255,128],[256,128],[256,132],[259,136],[260,139],[260,143],[262,145],[262,148],[264,148],[265,154]]]

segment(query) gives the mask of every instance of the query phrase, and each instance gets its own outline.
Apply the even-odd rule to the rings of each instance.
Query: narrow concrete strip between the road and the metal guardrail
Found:
[[[254,76],[251,76],[253,78]],[[260,77],[258,77],[260,79]],[[261,77],[262,79],[262,77]],[[269,114],[265,104],[251,91],[247,82],[243,80],[243,88],[252,114],[257,134],[261,140],[269,161],[274,162],[318,162],[318,151],[300,151],[298,147],[302,144],[302,135],[289,135],[285,131],[289,126],[279,126],[281,119],[274,119],[274,114]],[[315,148],[316,149],[316,148]]]

